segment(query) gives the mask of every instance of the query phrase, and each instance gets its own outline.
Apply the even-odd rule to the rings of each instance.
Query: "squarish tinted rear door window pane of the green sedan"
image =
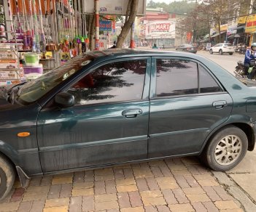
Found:
[[[198,94],[198,68],[187,60],[157,60],[157,97]]]

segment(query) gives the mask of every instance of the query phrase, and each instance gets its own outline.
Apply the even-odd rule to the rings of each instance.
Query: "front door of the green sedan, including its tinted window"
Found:
[[[107,62],[66,90],[75,105],[38,118],[44,172],[147,158],[150,57]],[[52,106],[50,106],[52,105]]]

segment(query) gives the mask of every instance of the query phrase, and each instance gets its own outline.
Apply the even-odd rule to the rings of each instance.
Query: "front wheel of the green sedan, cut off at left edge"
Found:
[[[0,200],[4,199],[15,182],[15,170],[12,164],[0,155]]]

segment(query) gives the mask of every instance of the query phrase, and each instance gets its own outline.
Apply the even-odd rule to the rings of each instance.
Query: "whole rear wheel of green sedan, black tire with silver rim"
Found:
[[[236,139],[236,142],[233,144],[233,148],[230,147],[231,144],[229,143],[231,137]],[[228,147],[225,147],[223,139],[225,139],[225,142],[227,142],[227,138],[229,138]],[[239,150],[234,150],[235,148],[239,147]],[[220,131],[217,131],[217,133],[212,136],[212,139],[209,140],[208,144],[206,144],[206,147],[203,150],[201,159],[203,160],[203,163],[206,163],[207,166],[215,171],[228,171],[241,162],[247,152],[247,148],[248,139],[244,131],[238,129],[236,126],[227,126]],[[238,153],[238,155],[235,156],[235,158],[232,158],[231,154],[234,156],[236,153]],[[225,161],[222,163],[222,160],[226,160],[227,158],[227,163],[225,164]],[[233,161],[230,160],[231,158]]]

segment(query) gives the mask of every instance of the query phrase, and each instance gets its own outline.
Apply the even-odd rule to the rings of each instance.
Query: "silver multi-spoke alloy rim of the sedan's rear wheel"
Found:
[[[241,155],[242,142],[238,136],[225,136],[218,142],[214,150],[214,159],[222,166],[235,163]]]

